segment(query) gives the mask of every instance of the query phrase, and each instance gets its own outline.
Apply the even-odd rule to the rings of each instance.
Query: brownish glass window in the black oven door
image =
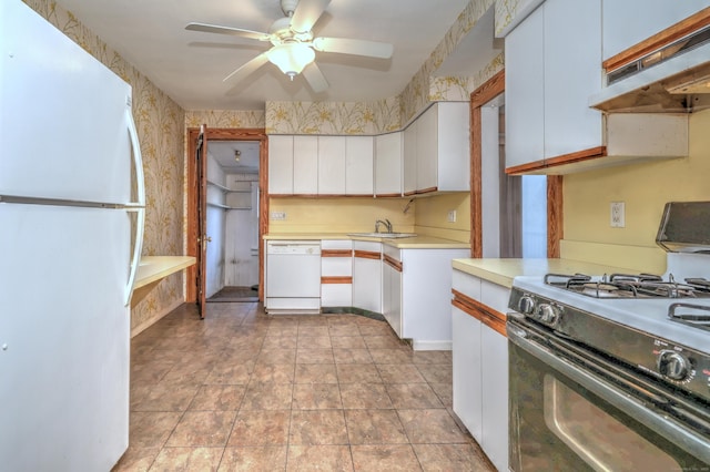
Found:
[[[594,470],[680,470],[665,451],[549,373],[544,391],[547,428]]]

